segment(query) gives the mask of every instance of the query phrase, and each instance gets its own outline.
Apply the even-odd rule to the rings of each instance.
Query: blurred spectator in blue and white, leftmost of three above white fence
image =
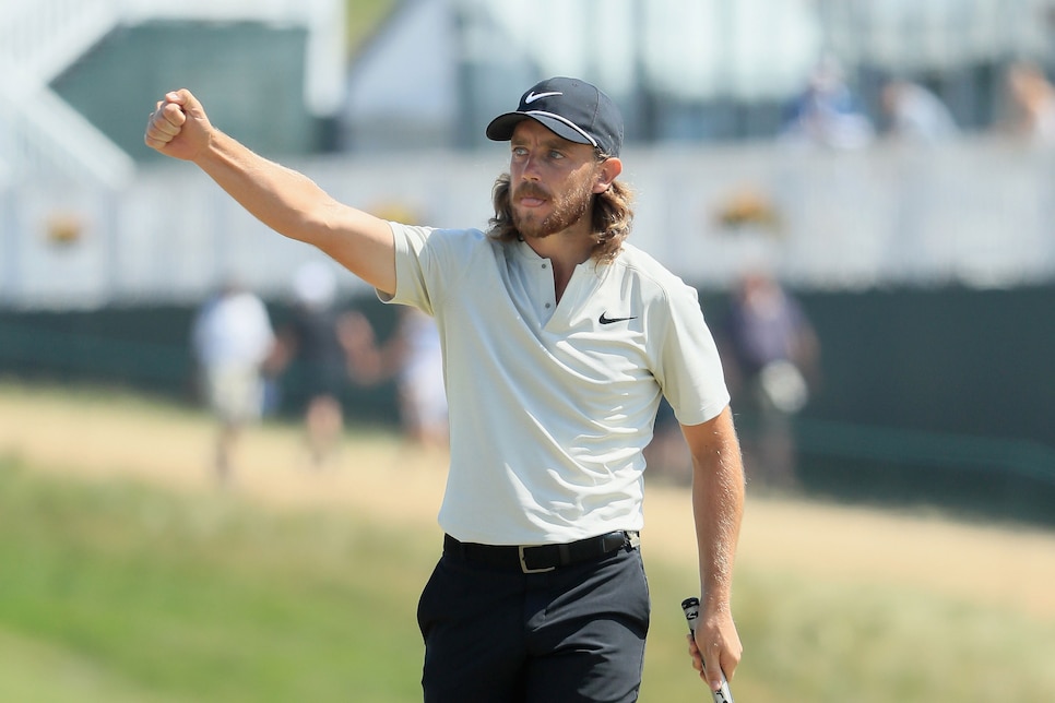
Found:
[[[810,74],[806,90],[790,106],[781,140],[794,145],[852,150],[867,146],[875,128],[846,85],[842,67],[826,57]]]

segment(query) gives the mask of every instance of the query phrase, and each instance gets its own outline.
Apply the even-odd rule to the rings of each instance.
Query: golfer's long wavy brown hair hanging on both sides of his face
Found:
[[[495,216],[488,221],[487,236],[499,241],[517,241],[520,233],[513,225],[512,203],[509,199],[509,174],[495,181],[491,200]],[[633,221],[633,191],[621,181],[613,181],[603,193],[593,198],[592,230],[596,245],[592,257],[598,263],[609,263],[619,253],[624,240],[630,236]]]

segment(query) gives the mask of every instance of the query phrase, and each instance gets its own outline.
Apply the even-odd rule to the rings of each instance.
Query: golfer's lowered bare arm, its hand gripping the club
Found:
[[[733,623],[733,561],[744,514],[744,464],[728,407],[701,425],[681,426],[692,454],[692,512],[700,555],[700,617],[689,645],[694,666],[711,690],[730,679],[743,646]],[[706,663],[706,668],[704,668]]]

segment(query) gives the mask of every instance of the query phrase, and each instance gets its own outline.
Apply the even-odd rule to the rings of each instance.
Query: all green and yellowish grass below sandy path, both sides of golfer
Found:
[[[69,403],[107,412],[91,394]],[[0,700],[420,700],[414,611],[435,533],[335,508],[78,479],[3,451]],[[645,559],[654,609],[641,700],[706,700],[678,607],[694,564]],[[742,702],[1055,700],[1055,622],[1011,607],[818,582],[806,567],[742,568],[735,597]]]

